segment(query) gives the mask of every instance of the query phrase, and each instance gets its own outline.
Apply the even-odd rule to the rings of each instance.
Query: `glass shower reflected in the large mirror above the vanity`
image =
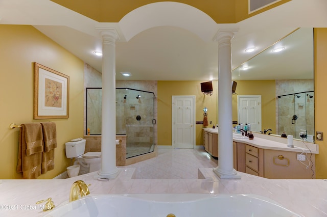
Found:
[[[314,142],[314,92],[278,96],[278,132]]]

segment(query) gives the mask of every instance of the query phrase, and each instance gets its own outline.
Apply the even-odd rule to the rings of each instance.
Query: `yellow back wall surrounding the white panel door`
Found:
[[[172,96],[195,95],[195,121],[203,121],[203,108],[208,108],[208,122],[217,124],[218,82],[213,81],[214,93],[204,96],[201,82],[205,81],[158,81],[158,145],[172,145]],[[208,126],[212,127],[212,126]],[[202,145],[202,124],[196,124],[196,145]]]

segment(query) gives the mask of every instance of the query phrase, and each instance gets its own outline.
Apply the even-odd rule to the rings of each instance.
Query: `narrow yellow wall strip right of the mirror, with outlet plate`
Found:
[[[327,178],[327,28],[314,29],[314,84],[315,84],[315,131],[325,133],[323,141],[316,141],[316,178]]]

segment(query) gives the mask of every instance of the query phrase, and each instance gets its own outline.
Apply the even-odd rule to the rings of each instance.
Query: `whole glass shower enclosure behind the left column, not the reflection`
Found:
[[[155,95],[116,88],[116,134],[127,135],[126,158],[152,152],[155,145]],[[102,89],[86,88],[86,133],[101,135]]]

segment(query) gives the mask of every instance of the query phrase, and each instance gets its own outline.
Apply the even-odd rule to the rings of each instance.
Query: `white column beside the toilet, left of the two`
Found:
[[[116,84],[115,41],[118,33],[112,28],[97,28],[102,36],[102,131],[101,169],[95,178],[114,179],[116,167]]]

